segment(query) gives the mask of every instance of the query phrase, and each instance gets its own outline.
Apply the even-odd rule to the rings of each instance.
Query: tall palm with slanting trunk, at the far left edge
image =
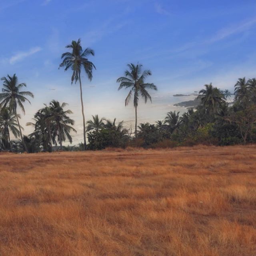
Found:
[[[32,94],[32,92],[29,91],[20,91],[21,88],[26,87],[26,84],[18,84],[18,78],[16,74],[14,74],[13,76],[7,75],[7,77],[3,77],[1,78],[1,80],[4,81],[4,83],[2,93],[0,93],[0,107],[8,107],[10,111],[12,111],[16,116],[16,120],[20,130],[21,140],[26,152],[28,152],[26,144],[23,140],[19,116],[17,114],[17,108],[20,107],[22,112],[25,114],[25,108],[23,106],[23,103],[26,101],[30,103],[28,98],[26,98],[25,96],[30,96],[34,98],[34,95]]]

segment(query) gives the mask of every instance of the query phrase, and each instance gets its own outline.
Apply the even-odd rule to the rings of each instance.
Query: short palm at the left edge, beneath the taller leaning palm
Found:
[[[2,131],[1,137],[2,140],[8,140],[9,148],[12,151],[12,145],[10,140],[10,131],[15,136],[15,138],[18,137],[20,134],[18,130],[18,124],[16,120],[16,116],[12,114],[8,108],[2,108],[0,111],[0,130]]]

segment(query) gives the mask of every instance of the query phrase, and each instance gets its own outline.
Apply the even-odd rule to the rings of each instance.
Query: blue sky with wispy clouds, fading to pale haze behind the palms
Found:
[[[22,124],[52,99],[68,102],[76,120],[74,143],[82,140],[78,85],[70,72],[58,70],[72,40],[91,47],[97,70],[83,77],[86,118],[99,114],[133,124],[132,105],[116,78],[126,64],[152,70],[158,86],[153,104],[139,106],[139,122],[163,119],[173,106],[190,99],[176,93],[204,84],[233,90],[237,78],[255,77],[255,0],[0,0],[0,76],[16,73],[35,95]],[[30,128],[26,127],[25,134]]]

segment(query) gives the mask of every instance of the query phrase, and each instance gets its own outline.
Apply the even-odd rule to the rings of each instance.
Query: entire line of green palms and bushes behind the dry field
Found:
[[[81,112],[83,119],[83,143],[78,146],[63,146],[63,142],[72,143],[70,132],[74,129],[74,120],[66,109],[67,103],[52,100],[34,114],[32,126],[34,132],[28,136],[22,134],[21,115],[25,114],[24,103],[30,103],[32,92],[25,91],[25,83],[19,83],[16,74],[7,75],[1,80],[0,93],[0,150],[11,152],[52,152],[60,150],[101,150],[106,147],[142,146],[173,147],[191,146],[195,144],[234,145],[256,142],[256,79],[239,78],[234,86],[234,100],[230,102],[231,92],[220,90],[211,83],[200,90],[196,108],[189,108],[180,116],[180,112],[168,112],[164,120],[155,124],[141,123],[137,125],[137,109],[139,99],[146,103],[152,101],[148,90],[157,90],[154,83],[146,82],[151,76],[150,70],[143,70],[141,64],[128,64],[124,76],[117,79],[118,90],[128,89],[125,106],[133,100],[135,109],[135,128],[124,128],[123,121],[116,123],[116,118],[108,120],[98,114],[86,122],[82,95],[81,72],[85,72],[88,80],[92,80],[94,64],[88,60],[94,56],[90,48],[82,49],[80,39],[72,41],[66,48],[70,52],[62,54],[59,68],[71,69],[71,84],[79,82]],[[88,144],[86,144],[86,133]],[[14,136],[16,140],[11,140]],[[20,139],[18,139],[20,138]],[[56,147],[59,145],[58,147]]]

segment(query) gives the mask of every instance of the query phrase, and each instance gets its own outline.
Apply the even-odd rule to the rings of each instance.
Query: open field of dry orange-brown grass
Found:
[[[1,256],[255,256],[256,146],[0,154]]]

